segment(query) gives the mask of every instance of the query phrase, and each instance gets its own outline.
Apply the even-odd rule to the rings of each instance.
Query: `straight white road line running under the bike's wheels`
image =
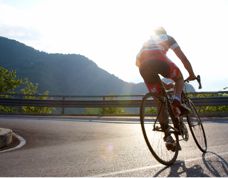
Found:
[[[210,153],[210,151],[208,152]],[[224,155],[228,155],[228,152],[222,152],[222,153],[218,153],[219,156],[224,156]],[[207,156],[207,158],[212,158],[215,157],[216,155],[211,155],[211,156]],[[187,159],[184,162],[193,162],[193,161],[198,161],[201,160],[202,157],[197,157],[197,158],[192,158],[192,159]],[[116,172],[108,172],[108,173],[104,173],[104,174],[97,174],[97,175],[93,175],[92,177],[109,177],[109,176],[115,176],[118,174],[125,174],[125,173],[131,173],[131,172],[135,172],[135,171],[141,171],[141,170],[147,170],[147,169],[154,169],[154,168],[162,168],[165,165],[163,164],[157,164],[154,166],[145,166],[145,167],[139,167],[139,168],[134,168],[134,169],[128,169],[128,170],[123,170],[123,171],[116,171]]]

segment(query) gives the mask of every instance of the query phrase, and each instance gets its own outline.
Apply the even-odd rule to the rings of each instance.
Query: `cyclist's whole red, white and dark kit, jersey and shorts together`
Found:
[[[166,56],[169,49],[178,47],[176,40],[166,34],[151,36],[143,44],[137,55],[137,65],[149,91],[160,92],[158,74],[174,81],[181,75],[179,68]]]

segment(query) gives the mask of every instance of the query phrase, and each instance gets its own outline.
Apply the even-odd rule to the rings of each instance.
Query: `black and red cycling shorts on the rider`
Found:
[[[142,54],[139,71],[150,92],[161,92],[158,74],[176,81],[182,74],[179,68],[160,51]]]

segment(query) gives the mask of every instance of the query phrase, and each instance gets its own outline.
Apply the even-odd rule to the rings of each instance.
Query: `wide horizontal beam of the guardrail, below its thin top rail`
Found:
[[[191,98],[196,106],[226,106],[228,97]],[[36,106],[66,108],[139,107],[141,100],[56,100],[0,98],[4,106]],[[150,103],[151,104],[151,103]],[[152,103],[153,104],[153,103]]]

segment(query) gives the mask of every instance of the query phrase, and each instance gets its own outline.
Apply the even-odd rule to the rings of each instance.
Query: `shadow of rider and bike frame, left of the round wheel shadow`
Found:
[[[165,174],[165,175],[163,175]],[[177,161],[172,166],[166,166],[159,170],[154,177],[166,176],[166,177],[209,177],[204,173],[203,168],[200,165],[194,165],[187,168],[184,161]]]

